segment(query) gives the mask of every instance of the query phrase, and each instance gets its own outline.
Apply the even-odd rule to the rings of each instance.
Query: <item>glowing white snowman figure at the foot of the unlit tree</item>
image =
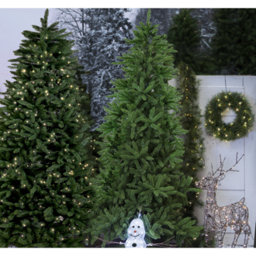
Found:
[[[125,247],[146,248],[147,244],[144,241],[145,233],[143,221],[140,219],[134,219],[127,230],[128,239],[126,240]]]

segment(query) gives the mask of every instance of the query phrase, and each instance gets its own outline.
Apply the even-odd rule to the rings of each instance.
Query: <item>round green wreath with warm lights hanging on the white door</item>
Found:
[[[237,113],[232,123],[223,123],[222,112],[233,109]],[[220,140],[237,140],[245,137],[254,124],[251,104],[241,93],[220,92],[206,105],[206,131]]]

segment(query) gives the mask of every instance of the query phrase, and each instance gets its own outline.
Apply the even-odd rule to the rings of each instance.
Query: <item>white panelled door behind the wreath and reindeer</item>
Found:
[[[251,75],[198,75],[197,79],[201,79],[199,86],[198,104],[201,109],[201,126],[206,147],[204,155],[205,168],[199,172],[199,178],[206,177],[208,172],[212,170],[211,163],[213,164],[213,171],[220,167],[221,160],[226,157],[223,170],[228,170],[236,163],[244,154],[244,157],[234,167],[234,170],[226,174],[226,178],[221,181],[216,191],[216,202],[218,206],[228,206],[231,203],[239,202],[240,199],[245,197],[244,204],[249,209],[249,222],[251,226],[250,239],[248,245],[254,244],[254,232],[256,221],[256,76]],[[169,85],[177,87],[176,78],[168,81]],[[206,104],[213,95],[219,92],[238,92],[242,93],[252,106],[252,112],[255,114],[254,126],[249,131],[247,137],[240,138],[234,141],[220,141],[213,136],[206,133],[204,112]],[[173,111],[170,111],[170,113]],[[229,123],[234,120],[236,114],[233,110],[225,110],[223,112],[223,122]],[[199,199],[206,202],[206,190],[202,190],[199,194]],[[204,208],[195,208],[195,216],[199,219],[199,225],[203,225]],[[252,238],[253,237],[253,238]],[[230,227],[227,228],[223,244],[232,244],[234,240],[234,230]],[[237,245],[244,244],[244,234],[241,233],[237,240]]]

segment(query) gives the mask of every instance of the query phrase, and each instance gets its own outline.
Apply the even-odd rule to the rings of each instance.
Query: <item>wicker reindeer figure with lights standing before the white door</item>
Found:
[[[238,154],[238,153],[237,153]],[[242,155],[242,157],[244,154]],[[240,157],[240,159],[242,158]],[[225,173],[231,171],[234,166],[240,161],[236,161],[236,164],[227,171],[223,171],[223,162],[220,157],[220,168],[216,171],[220,171],[220,175],[214,177],[216,171],[211,174],[209,171],[206,178],[202,178],[200,182],[195,182],[195,186],[199,189],[207,189],[207,198],[206,198],[206,208],[204,211],[204,229],[206,231],[206,244],[209,247],[213,235],[216,237],[217,246],[219,248],[223,247],[223,237],[226,233],[227,227],[231,227],[235,231],[234,241],[232,248],[237,244],[237,239],[240,236],[241,232],[244,232],[244,247],[247,247],[248,239],[251,234],[251,227],[248,223],[249,212],[247,206],[244,205],[244,198],[240,199],[240,202],[235,202],[229,206],[220,207],[216,203],[216,189],[220,185],[220,181],[225,178]],[[232,170],[237,171],[237,170]],[[212,164],[213,172],[213,164]]]

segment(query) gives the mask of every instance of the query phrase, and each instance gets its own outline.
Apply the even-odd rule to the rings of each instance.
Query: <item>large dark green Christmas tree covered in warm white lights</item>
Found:
[[[95,192],[88,182],[85,131],[78,113],[78,66],[58,22],[24,31],[15,81],[0,102],[0,247],[82,247]]]

